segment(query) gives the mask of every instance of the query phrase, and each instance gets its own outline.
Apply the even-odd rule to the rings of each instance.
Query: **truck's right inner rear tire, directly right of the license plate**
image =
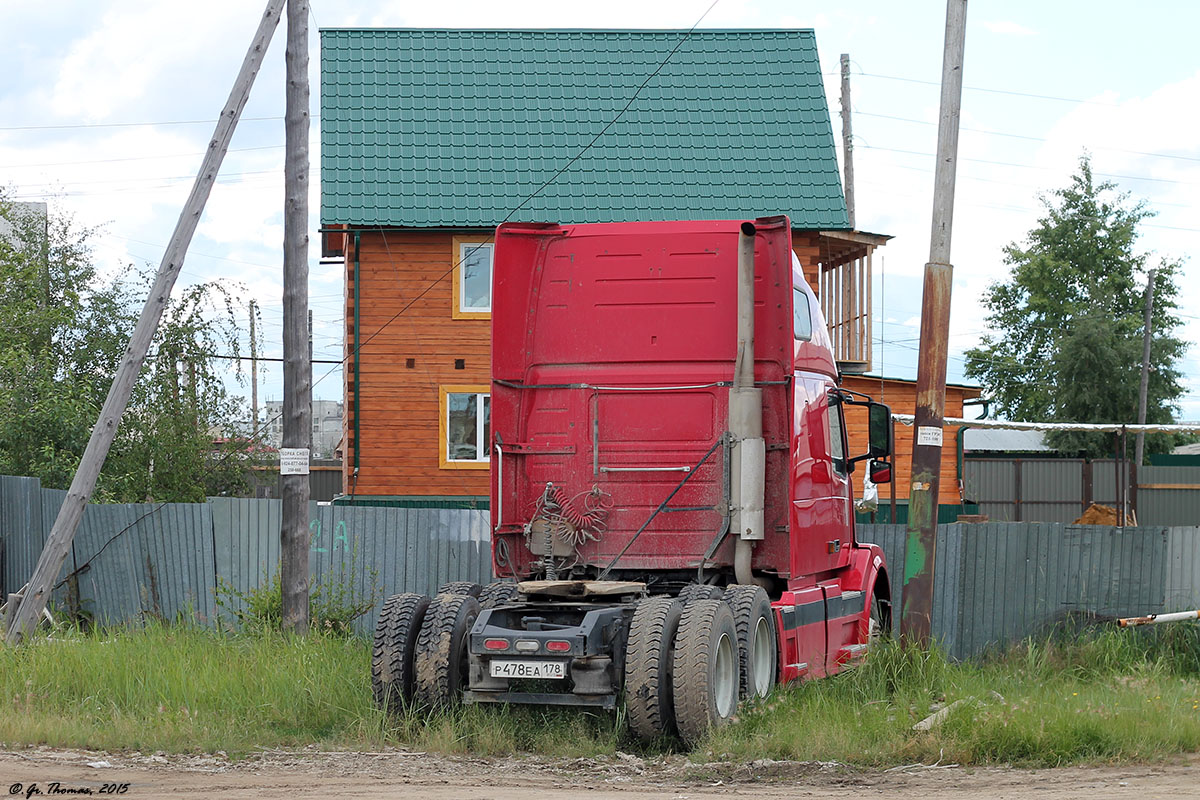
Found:
[[[629,727],[641,739],[674,734],[671,690],[674,637],[683,603],[648,597],[637,603],[625,645],[625,710]]]

